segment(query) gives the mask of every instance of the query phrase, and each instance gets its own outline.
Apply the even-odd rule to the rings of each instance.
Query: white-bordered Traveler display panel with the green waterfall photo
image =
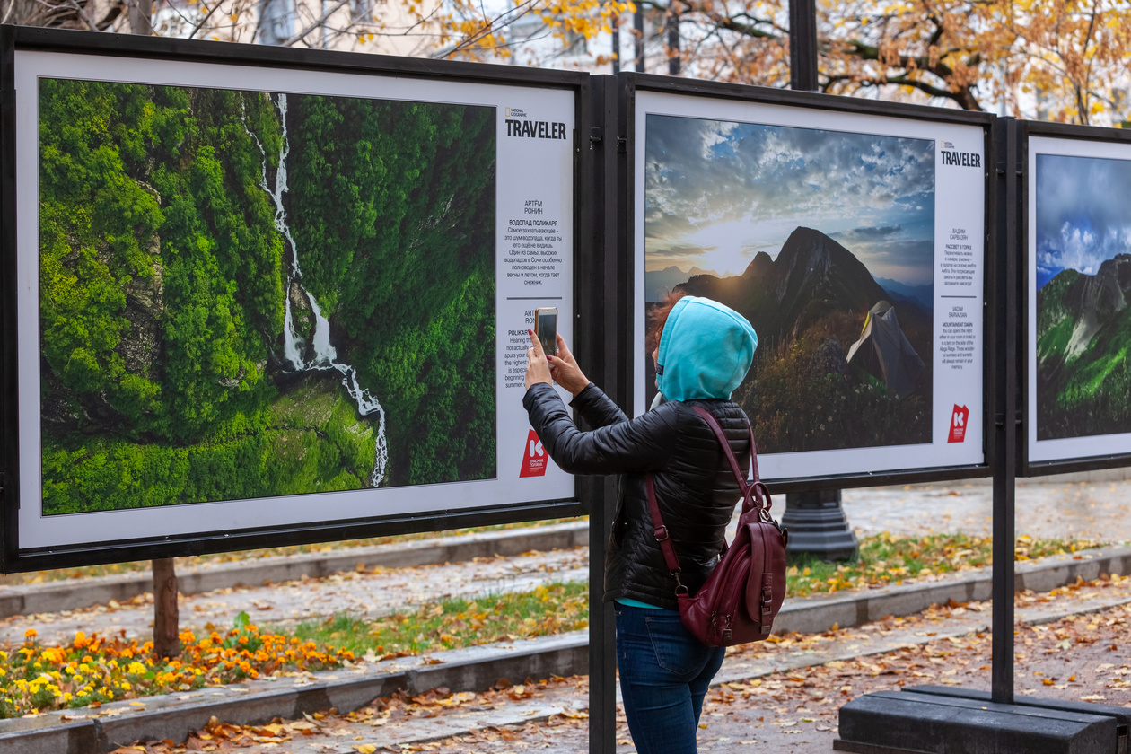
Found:
[[[564,500],[575,93],[16,53],[19,547]],[[536,170],[533,170],[536,168]]]

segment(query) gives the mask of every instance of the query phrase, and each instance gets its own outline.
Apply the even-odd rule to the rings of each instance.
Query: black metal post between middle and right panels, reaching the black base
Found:
[[[1017,318],[1018,274],[1018,124],[1012,118],[998,129],[998,243],[994,293],[998,297],[993,458],[993,657],[991,694],[999,704],[1013,703],[1013,512],[1017,479]]]

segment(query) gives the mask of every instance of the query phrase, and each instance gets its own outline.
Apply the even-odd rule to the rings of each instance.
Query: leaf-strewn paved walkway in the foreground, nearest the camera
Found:
[[[1017,693],[1131,704],[1131,673],[1117,647],[1131,642],[1131,580],[1020,595]],[[1072,617],[1065,617],[1072,616]],[[988,603],[942,607],[821,634],[788,634],[728,652],[708,694],[700,752],[832,751],[837,711],[858,695],[901,685],[988,687]],[[1069,649],[1064,649],[1065,645]],[[221,725],[188,747],[131,752],[346,754],[580,754],[588,747],[585,677],[524,683],[486,693],[375,700],[348,714],[309,716],[267,727]],[[618,754],[636,751],[618,709]],[[120,749],[121,751],[121,749]]]

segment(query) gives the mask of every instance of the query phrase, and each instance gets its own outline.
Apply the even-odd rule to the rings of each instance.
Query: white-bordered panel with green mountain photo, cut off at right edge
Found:
[[[1028,459],[1131,452],[1131,145],[1028,140]]]

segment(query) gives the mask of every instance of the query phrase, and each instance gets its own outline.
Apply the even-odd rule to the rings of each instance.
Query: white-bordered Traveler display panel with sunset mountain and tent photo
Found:
[[[763,477],[984,462],[984,133],[637,93],[636,343],[674,289],[751,321]]]

